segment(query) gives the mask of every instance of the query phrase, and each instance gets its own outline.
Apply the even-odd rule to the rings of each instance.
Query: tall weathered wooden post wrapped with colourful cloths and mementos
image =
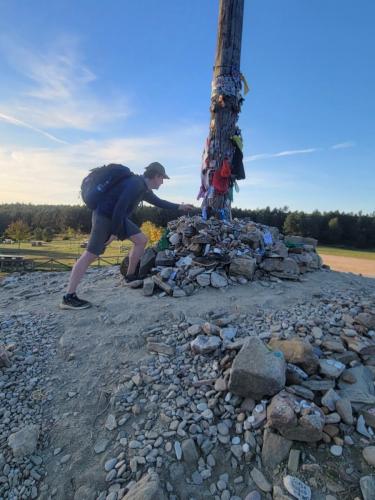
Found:
[[[243,170],[238,173],[239,160],[242,165],[242,137],[237,127],[243,102],[240,71],[243,12],[244,0],[220,0],[211,121],[202,157],[200,196],[204,217],[230,219],[234,181],[244,178]]]

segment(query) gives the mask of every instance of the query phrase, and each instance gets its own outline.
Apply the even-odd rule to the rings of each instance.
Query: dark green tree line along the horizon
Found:
[[[194,213],[199,212],[197,210]],[[177,210],[160,210],[143,205],[133,214],[132,219],[138,225],[150,221],[165,227],[170,220],[180,215],[181,212]],[[276,226],[284,234],[313,237],[321,244],[375,249],[375,212],[369,215],[361,212],[354,214],[318,210],[305,213],[290,211],[287,207],[266,207],[253,210],[233,208],[232,215]],[[51,238],[57,233],[89,233],[91,212],[79,205],[0,204],[0,236],[5,237],[9,226],[16,221],[22,221],[28,226],[30,236],[45,239],[47,235]]]

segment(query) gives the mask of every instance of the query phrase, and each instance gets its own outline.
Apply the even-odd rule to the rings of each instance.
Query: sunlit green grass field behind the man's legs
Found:
[[[49,243],[43,242],[43,246],[37,247],[33,247],[30,242],[21,243],[20,248],[18,248],[18,243],[0,243],[0,254],[20,255],[26,259],[32,259],[36,270],[68,270],[84,251],[80,244],[86,240],[85,236],[76,240],[57,238]],[[95,261],[93,265],[118,264],[127,255],[130,247],[129,241],[113,241],[100,260]]]

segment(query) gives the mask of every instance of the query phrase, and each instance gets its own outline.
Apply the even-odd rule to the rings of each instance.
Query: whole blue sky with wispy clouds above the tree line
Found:
[[[0,203],[77,204],[90,168],[159,161],[194,203],[218,0],[0,0]],[[375,212],[373,0],[245,0],[234,206]]]

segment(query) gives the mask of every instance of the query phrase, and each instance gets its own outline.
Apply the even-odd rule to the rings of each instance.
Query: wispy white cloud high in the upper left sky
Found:
[[[26,84],[0,111],[35,128],[96,130],[130,113],[124,96],[95,95],[97,79],[82,61],[74,39],[61,39],[46,51],[32,51],[1,39],[0,49]]]

